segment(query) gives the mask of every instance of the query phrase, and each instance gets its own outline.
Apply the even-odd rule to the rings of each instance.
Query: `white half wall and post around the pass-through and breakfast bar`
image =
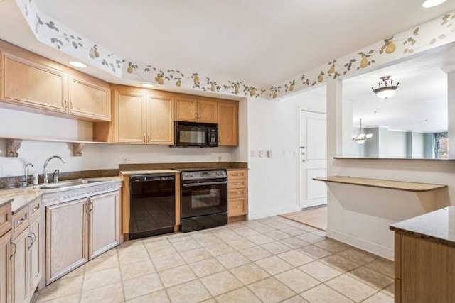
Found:
[[[448,194],[438,197],[437,201],[439,204],[455,205],[455,161],[334,159],[341,155],[341,145],[352,144],[339,140],[341,136],[338,134],[338,128],[343,124],[339,119],[343,106],[341,96],[341,84],[338,81],[328,82],[328,175],[446,184]],[[451,101],[453,100],[449,99],[449,104]],[[400,203],[397,192],[399,191],[384,190],[381,197],[384,201]],[[351,194],[357,197],[359,193],[353,190]],[[365,204],[377,203],[372,202],[368,196],[363,197]],[[374,205],[372,208],[377,206]],[[391,213],[395,211],[390,210]],[[405,217],[407,213],[402,211],[399,215]],[[331,238],[392,259],[393,233],[389,226],[394,222],[392,219],[344,209],[333,193],[328,192],[326,235]]]

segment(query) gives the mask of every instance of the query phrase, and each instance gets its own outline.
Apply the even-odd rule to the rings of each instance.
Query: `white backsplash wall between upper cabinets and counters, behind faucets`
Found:
[[[90,141],[92,123],[73,119],[0,109],[0,177],[24,175],[25,164],[32,162],[30,173],[43,173],[45,159],[60,155],[67,161],[52,160],[48,172],[116,169],[119,164],[161,162],[247,162],[247,102],[240,101],[240,145],[218,148],[169,148],[168,145],[85,144],[82,157],[73,156],[71,143],[24,140],[18,158],[5,157],[6,141],[11,138],[50,138]]]

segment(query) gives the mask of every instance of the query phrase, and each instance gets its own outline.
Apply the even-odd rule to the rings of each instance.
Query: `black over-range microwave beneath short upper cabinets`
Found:
[[[215,148],[218,146],[218,124],[176,121],[176,138],[172,146]]]

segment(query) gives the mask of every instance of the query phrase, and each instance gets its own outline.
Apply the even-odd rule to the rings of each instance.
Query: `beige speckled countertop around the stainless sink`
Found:
[[[89,180],[98,180],[105,182],[121,182],[120,177],[100,177],[100,178],[90,178]],[[62,181],[65,182],[65,181]],[[102,182],[83,184],[80,187],[94,186],[97,184],[102,184]],[[72,188],[70,188],[72,189]],[[55,189],[34,189],[33,186],[25,188],[14,188],[14,189],[2,189],[0,190],[0,206],[11,202],[11,211],[13,214],[21,209],[23,206],[26,206],[28,202],[31,202],[33,199],[40,197],[42,194],[48,194],[52,192],[59,192],[63,190],[69,190],[69,188],[55,188]]]

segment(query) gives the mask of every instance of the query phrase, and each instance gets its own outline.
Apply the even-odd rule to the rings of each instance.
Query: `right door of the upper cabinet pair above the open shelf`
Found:
[[[111,120],[111,95],[106,87],[70,76],[68,79],[69,114],[91,120]]]

